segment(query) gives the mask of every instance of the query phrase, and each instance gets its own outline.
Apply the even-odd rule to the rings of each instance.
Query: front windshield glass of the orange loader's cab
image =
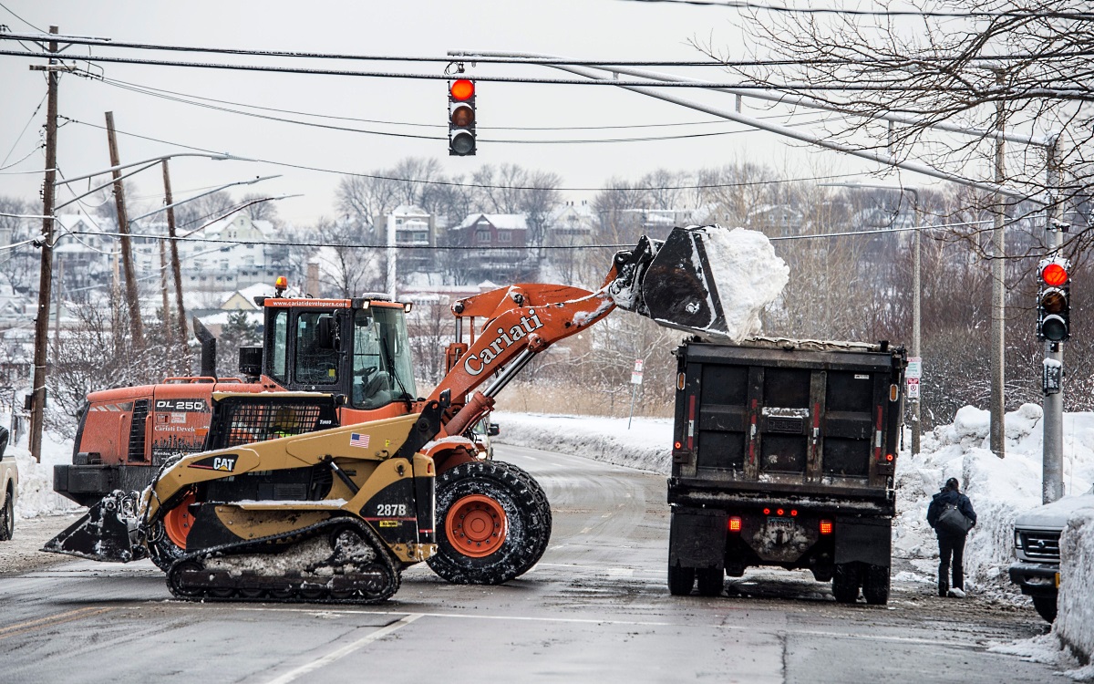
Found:
[[[373,306],[353,317],[353,407],[380,408],[414,399],[417,387],[406,315],[401,309]]]

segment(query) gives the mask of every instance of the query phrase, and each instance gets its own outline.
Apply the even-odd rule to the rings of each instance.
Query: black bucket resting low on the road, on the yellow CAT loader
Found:
[[[49,540],[42,550],[108,563],[129,563],[146,557],[136,513],[138,497],[136,491],[115,490]]]

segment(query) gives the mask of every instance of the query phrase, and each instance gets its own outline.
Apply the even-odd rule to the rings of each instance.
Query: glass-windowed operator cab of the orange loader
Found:
[[[264,305],[263,374],[282,387],[341,395],[342,406],[358,410],[417,397],[408,305],[372,298],[271,298]]]

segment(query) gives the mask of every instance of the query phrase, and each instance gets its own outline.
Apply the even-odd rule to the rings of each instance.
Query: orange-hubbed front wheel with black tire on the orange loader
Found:
[[[455,584],[501,584],[527,571],[547,548],[551,524],[529,482],[535,480],[516,466],[498,461],[462,463],[442,473],[438,552],[429,567]]]

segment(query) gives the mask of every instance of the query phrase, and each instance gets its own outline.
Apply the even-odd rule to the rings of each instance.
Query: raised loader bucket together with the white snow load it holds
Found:
[[[674,228],[662,242],[644,235],[616,254],[615,303],[661,325],[740,339],[759,327],[789,269],[760,233],[718,225]]]

